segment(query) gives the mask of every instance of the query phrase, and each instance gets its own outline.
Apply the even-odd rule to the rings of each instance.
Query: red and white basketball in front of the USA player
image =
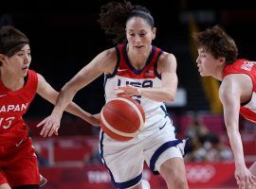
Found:
[[[119,141],[133,139],[144,127],[145,113],[131,97],[116,97],[101,110],[101,128],[111,138]]]

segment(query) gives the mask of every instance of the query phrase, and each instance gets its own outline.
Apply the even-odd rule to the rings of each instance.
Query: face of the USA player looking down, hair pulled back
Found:
[[[126,24],[126,38],[129,49],[135,52],[151,50],[151,43],[155,39],[155,28],[142,18],[131,18]]]

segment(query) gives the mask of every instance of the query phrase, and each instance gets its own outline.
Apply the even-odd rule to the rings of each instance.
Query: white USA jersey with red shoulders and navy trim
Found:
[[[117,97],[117,89],[119,86],[132,85],[141,88],[160,88],[161,76],[157,73],[157,60],[163,51],[155,46],[152,46],[151,54],[146,61],[145,66],[137,70],[128,60],[126,43],[119,44],[115,47],[117,52],[117,65],[112,75],[105,75],[104,91],[106,102]],[[163,102],[156,102],[141,95],[134,95],[142,106],[146,122],[144,129],[155,129],[154,126],[165,125],[170,121],[170,117],[166,111]],[[121,110],[120,110],[121,111]]]

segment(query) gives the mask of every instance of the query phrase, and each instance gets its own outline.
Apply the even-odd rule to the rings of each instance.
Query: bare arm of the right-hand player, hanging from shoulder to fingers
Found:
[[[243,85],[239,83],[239,80],[230,75],[223,79],[219,95],[223,104],[225,125],[234,155],[235,179],[239,188],[249,188],[254,185],[256,177],[247,169],[239,132],[240,98],[243,90]]]

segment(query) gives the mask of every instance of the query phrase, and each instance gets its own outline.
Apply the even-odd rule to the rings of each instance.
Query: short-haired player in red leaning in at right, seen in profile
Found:
[[[237,46],[220,26],[194,33],[193,37],[198,48],[196,62],[200,75],[222,81],[219,96],[234,155],[235,179],[239,188],[254,188],[256,163],[247,169],[239,133],[239,112],[247,120],[256,122],[256,62],[237,60]]]

